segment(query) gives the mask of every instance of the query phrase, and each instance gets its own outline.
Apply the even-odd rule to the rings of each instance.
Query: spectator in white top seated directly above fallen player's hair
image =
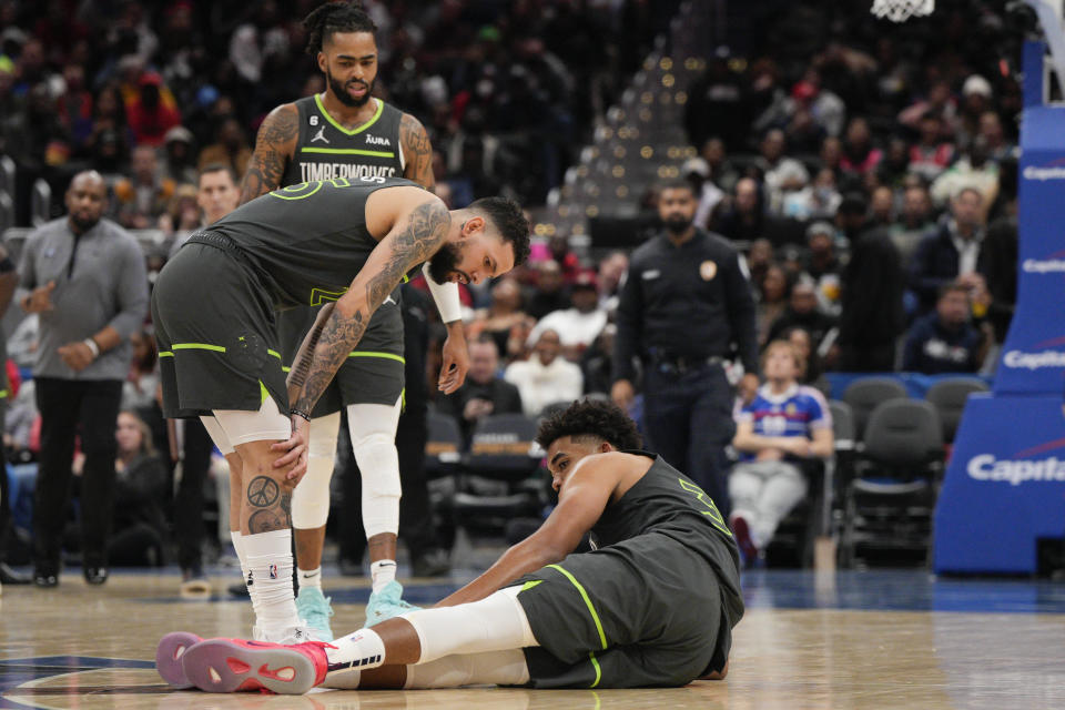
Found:
[[[548,328],[539,333],[529,359],[507,366],[504,379],[518,388],[526,416],[538,417],[547,405],[572,402],[584,392],[580,367],[560,357],[561,352],[561,338]]]

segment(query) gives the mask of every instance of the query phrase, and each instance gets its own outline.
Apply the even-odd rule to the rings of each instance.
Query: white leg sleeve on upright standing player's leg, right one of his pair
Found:
[[[402,399],[393,406],[352,404],[347,425],[355,462],[363,475],[363,528],[366,539],[399,531],[399,455],[396,427]]]

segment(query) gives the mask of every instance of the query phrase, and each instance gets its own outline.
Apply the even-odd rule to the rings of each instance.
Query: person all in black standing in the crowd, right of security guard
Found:
[[[895,341],[905,325],[905,282],[899,251],[884,229],[865,230],[865,200],[848,195],[836,224],[851,243],[841,278],[839,367],[845,372],[890,372]]]

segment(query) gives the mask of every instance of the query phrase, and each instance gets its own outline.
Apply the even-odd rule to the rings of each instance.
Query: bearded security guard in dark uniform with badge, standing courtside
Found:
[[[743,364],[744,399],[758,389],[754,300],[737,252],[697,229],[696,194],[683,181],[661,190],[665,231],[632,253],[618,305],[611,396],[632,404],[635,361],[643,365],[643,422],[652,448],[692,479],[728,516],[724,447],[732,440],[733,393],[724,359]]]

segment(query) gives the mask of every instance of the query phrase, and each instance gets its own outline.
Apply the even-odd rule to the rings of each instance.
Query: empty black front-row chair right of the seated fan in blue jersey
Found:
[[[869,550],[882,559],[904,554],[926,561],[942,471],[935,407],[920,399],[881,403],[869,417],[853,476],[842,486],[841,566],[853,566]]]

